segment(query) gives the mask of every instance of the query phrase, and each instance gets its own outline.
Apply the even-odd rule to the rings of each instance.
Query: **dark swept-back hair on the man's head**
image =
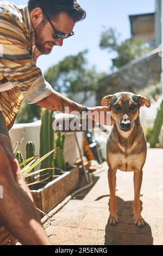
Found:
[[[55,19],[62,11],[70,16],[74,22],[84,20],[86,12],[76,0],[29,0],[28,9],[32,11],[40,7],[49,17]]]

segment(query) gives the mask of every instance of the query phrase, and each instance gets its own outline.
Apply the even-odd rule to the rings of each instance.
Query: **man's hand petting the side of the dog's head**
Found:
[[[115,120],[111,117],[108,107],[88,107],[88,117],[101,125],[114,125]]]

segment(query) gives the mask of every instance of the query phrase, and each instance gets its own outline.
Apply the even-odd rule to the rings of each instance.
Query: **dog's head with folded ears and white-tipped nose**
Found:
[[[105,96],[101,105],[109,107],[118,129],[127,132],[134,127],[140,107],[150,107],[151,103],[142,95],[123,92]]]

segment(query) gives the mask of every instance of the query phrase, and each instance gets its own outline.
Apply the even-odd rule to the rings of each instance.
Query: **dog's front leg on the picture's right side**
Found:
[[[140,210],[140,190],[142,184],[142,170],[134,172],[134,202],[133,202],[133,218],[134,224],[138,227],[146,224],[145,220],[141,217]]]

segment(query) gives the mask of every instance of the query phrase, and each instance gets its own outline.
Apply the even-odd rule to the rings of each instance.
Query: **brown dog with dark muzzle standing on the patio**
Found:
[[[140,189],[142,184],[142,168],[146,161],[147,144],[139,119],[141,106],[150,107],[146,97],[133,93],[123,92],[105,96],[102,106],[110,108],[111,117],[115,120],[109,133],[106,146],[106,161],[109,166],[108,181],[110,189],[110,216],[109,224],[118,223],[117,202],[115,196],[116,171],[134,171],[134,224],[146,224],[141,217]]]

